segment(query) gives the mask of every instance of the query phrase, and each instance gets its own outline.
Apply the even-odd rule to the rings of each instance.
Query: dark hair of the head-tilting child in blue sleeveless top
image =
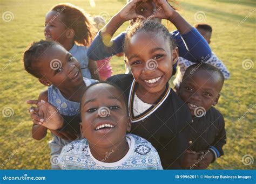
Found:
[[[31,46],[23,54],[23,63],[26,72],[40,79],[42,74],[37,63],[41,61],[41,56],[52,46],[59,45],[55,41],[38,41],[33,42]]]

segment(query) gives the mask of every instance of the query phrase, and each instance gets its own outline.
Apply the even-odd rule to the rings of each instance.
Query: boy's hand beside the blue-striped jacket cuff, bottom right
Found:
[[[214,159],[214,155],[209,150],[203,151],[203,154],[201,154],[201,153],[202,152],[197,152],[198,159],[200,159],[201,161],[196,166],[196,168],[197,169],[206,169],[211,164],[212,160]]]

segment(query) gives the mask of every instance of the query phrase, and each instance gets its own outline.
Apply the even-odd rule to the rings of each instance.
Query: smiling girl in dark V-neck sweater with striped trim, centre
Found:
[[[178,48],[169,31],[150,20],[130,27],[124,52],[132,74],[114,75],[107,80],[126,95],[131,133],[150,141],[164,169],[181,169],[181,158],[190,138],[191,115],[168,83]]]

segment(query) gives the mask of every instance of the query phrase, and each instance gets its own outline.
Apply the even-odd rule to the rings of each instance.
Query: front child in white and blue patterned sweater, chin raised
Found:
[[[63,147],[62,169],[163,169],[156,149],[131,130],[126,97],[113,84],[88,87],[81,101],[82,140]]]

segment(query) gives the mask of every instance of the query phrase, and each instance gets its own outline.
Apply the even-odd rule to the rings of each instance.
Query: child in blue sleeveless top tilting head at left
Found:
[[[25,51],[23,60],[26,71],[37,77],[44,86],[48,86],[48,90],[39,95],[38,101],[51,103],[62,115],[79,114],[79,102],[86,86],[96,81],[83,78],[76,58],[73,58],[65,48],[55,42],[38,41]],[[37,114],[35,109],[30,111],[31,114]],[[47,119],[37,121],[35,118],[33,118],[33,123],[32,137],[37,140],[46,136],[47,129],[54,133],[49,143],[51,155],[59,154],[62,147],[70,143],[70,140],[64,140],[55,135],[61,124],[52,124]],[[79,135],[79,132],[75,133]],[[52,168],[57,167],[52,165]]]

